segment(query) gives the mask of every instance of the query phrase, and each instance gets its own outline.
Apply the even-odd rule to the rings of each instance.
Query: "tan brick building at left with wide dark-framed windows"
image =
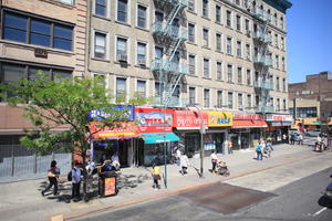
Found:
[[[33,80],[39,70],[51,80],[54,75],[84,75],[86,3],[86,0],[1,1],[0,83],[20,77]],[[50,152],[41,157],[20,145],[23,128],[33,129],[33,125],[22,117],[21,109],[6,106],[6,97],[0,103],[0,113],[1,179],[44,175],[52,159],[59,161],[63,171],[71,167],[71,154]]]

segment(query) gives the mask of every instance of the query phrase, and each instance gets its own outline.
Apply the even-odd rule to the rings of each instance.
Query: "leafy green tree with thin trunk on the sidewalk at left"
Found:
[[[146,98],[133,95],[124,103],[125,95],[114,97],[105,88],[104,78],[62,78],[50,80],[42,72],[37,78],[21,78],[15,83],[0,86],[1,97],[12,107],[24,109],[34,129],[27,130],[20,140],[28,149],[40,155],[50,151],[65,150],[82,157],[86,161],[89,141],[103,128],[122,127],[128,119],[124,116],[126,108],[118,105],[142,105]],[[101,110],[95,118],[89,117],[91,110]],[[91,122],[97,120],[97,129],[91,131]],[[62,127],[62,130],[55,128]],[[85,169],[85,167],[84,167]],[[83,193],[86,196],[86,172],[83,172]],[[86,198],[85,198],[86,199]]]

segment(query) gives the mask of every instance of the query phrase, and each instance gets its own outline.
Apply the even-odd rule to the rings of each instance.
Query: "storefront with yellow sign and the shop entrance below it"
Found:
[[[225,141],[229,128],[232,126],[232,114],[230,112],[207,112],[208,129],[204,135],[204,150],[206,155],[216,150],[226,154]]]

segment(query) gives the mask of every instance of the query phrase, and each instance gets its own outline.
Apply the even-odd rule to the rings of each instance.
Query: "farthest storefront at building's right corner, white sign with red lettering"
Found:
[[[269,125],[266,138],[273,143],[281,143],[283,135],[288,136],[288,130],[292,125],[292,115],[267,114],[266,120]]]

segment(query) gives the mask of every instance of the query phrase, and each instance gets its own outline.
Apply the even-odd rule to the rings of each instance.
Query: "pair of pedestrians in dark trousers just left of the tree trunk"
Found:
[[[53,187],[53,196],[59,196],[58,191],[58,182],[59,182],[59,176],[60,176],[60,168],[58,167],[58,164],[55,160],[51,161],[50,169],[48,170],[48,179],[49,185],[48,187],[41,191],[42,196],[45,196],[45,192],[49,191]],[[69,173],[69,181],[72,182],[72,199],[80,200],[80,189],[81,189],[81,181],[82,181],[83,171],[80,167],[80,162],[74,162],[74,167]]]

